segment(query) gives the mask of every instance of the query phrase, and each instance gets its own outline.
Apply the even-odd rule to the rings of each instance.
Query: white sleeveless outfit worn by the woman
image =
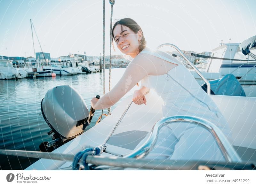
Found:
[[[164,57],[161,55],[162,51],[145,50],[141,53],[178,65],[166,74],[148,75],[141,80],[142,86],[155,90],[162,97],[164,117],[189,115],[204,118],[218,126],[229,142],[232,141],[227,121],[183,64],[171,55],[170,58]],[[225,161],[212,134],[189,123],[169,124],[162,128],[156,146],[146,158]]]

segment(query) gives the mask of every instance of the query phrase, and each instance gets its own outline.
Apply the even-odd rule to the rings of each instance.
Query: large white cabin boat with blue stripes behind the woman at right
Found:
[[[255,39],[255,36],[253,38]],[[245,56],[239,45],[240,43],[226,43],[213,49],[213,58],[208,59],[205,69],[199,68],[199,70],[209,81],[233,74],[243,87],[245,94],[256,97],[256,57]],[[251,46],[251,52],[256,54],[256,47]],[[190,70],[190,72],[200,85],[204,83],[195,70]]]

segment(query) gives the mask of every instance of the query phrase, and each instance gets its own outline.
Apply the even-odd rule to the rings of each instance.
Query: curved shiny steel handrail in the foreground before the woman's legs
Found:
[[[227,162],[241,162],[241,159],[236,153],[235,149],[228,142],[227,138],[224,136],[224,134],[216,125],[214,125],[210,121],[207,121],[198,117],[193,117],[193,116],[170,116],[170,117],[166,117],[166,118],[162,118],[161,120],[158,120],[154,124],[147,141],[142,146],[140,146],[140,148],[138,148],[136,151],[124,156],[124,158],[141,159],[147,156],[148,153],[152,151],[152,149],[156,144],[157,136],[159,134],[160,129],[170,123],[178,123],[178,122],[189,122],[191,124],[195,124],[207,129],[212,134],[212,136],[216,139],[216,142],[220,146],[220,150],[223,153]]]

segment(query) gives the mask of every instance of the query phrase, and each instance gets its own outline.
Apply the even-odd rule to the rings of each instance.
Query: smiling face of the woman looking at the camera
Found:
[[[116,25],[113,31],[117,48],[124,54],[135,58],[139,53],[142,32],[134,33],[129,27]]]

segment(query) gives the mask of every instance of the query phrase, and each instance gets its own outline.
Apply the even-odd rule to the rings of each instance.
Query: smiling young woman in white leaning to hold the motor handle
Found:
[[[112,35],[117,48],[133,60],[112,90],[100,99],[92,98],[95,110],[116,104],[141,81],[141,88],[133,94],[135,104],[146,105],[144,95],[148,89],[154,89],[164,100],[164,117],[190,115],[204,118],[216,124],[231,140],[226,120],[189,70],[169,54],[147,48],[142,29],[133,19],[117,21]],[[161,129],[158,142],[147,158],[224,161],[212,135],[193,124],[169,124]]]

